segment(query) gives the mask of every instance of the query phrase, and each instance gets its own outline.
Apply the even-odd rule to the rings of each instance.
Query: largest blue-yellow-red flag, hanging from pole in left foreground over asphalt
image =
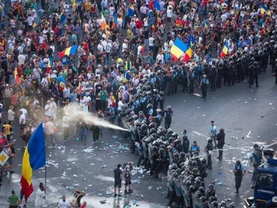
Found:
[[[42,168],[45,164],[44,130],[40,123],[30,137],[22,159],[21,189],[26,198],[33,193],[33,171]]]

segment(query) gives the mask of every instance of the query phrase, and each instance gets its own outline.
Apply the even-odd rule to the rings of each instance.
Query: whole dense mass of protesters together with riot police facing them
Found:
[[[212,123],[208,159],[199,159],[194,156],[199,146],[196,141],[190,146],[186,130],[179,136],[170,129],[173,110],[164,107],[165,96],[194,94],[199,87],[206,100],[208,85],[215,91],[242,81],[243,87],[245,79],[249,87],[254,80],[259,87],[258,76],[268,62],[275,76],[275,0],[5,0],[1,13],[0,100],[1,112],[8,112],[1,116],[1,145],[9,143],[7,174],[13,173],[10,135],[17,116],[23,150],[40,122],[45,123],[46,145],[55,146],[59,119],[64,142],[70,137],[69,115],[61,109],[75,103],[130,129],[130,150],[140,155],[137,166],[143,164],[156,177],[168,173],[168,205],[175,200],[177,207],[219,206],[213,184],[204,189],[204,177],[206,168],[212,168],[213,148],[220,149],[222,159],[224,130],[217,134]],[[172,57],[177,37],[190,44],[189,60]],[[69,52],[73,47],[75,53]],[[84,121],[74,128],[84,145],[87,130],[93,132],[93,143],[102,135],[101,127]],[[130,183],[127,179],[126,194],[132,192]]]

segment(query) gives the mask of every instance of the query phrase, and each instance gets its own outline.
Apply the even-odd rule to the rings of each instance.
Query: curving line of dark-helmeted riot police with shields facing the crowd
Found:
[[[275,26],[276,27],[276,26]],[[218,202],[215,197],[214,184],[208,184],[205,189],[204,178],[206,169],[211,167],[211,151],[213,151],[213,139],[217,138],[219,159],[222,159],[224,146],[224,130],[221,135],[213,135],[208,139],[205,158],[198,157],[195,144],[190,146],[186,132],[180,136],[170,128],[173,110],[170,106],[164,107],[164,93],[170,95],[178,92],[179,86],[182,92],[194,93],[195,84],[199,83],[203,74],[210,80],[211,90],[223,85],[235,85],[248,78],[249,87],[256,81],[258,75],[267,69],[268,60],[272,65],[272,72],[277,70],[277,32],[273,31],[263,44],[254,47],[247,53],[237,51],[224,59],[213,59],[204,62],[202,73],[197,71],[196,64],[180,63],[172,65],[168,69],[157,64],[154,71],[145,74],[142,83],[133,90],[129,102],[125,103],[122,112],[118,114],[122,125],[130,130],[124,132],[125,137],[131,138],[130,150],[139,153],[139,161],[136,166],[143,165],[148,175],[159,177],[164,173],[168,179],[168,203],[176,207],[233,207],[226,205],[225,201]],[[198,76],[199,79],[195,78]],[[277,83],[277,78],[276,78]],[[161,121],[164,116],[164,128]],[[223,139],[222,139],[223,138]],[[197,146],[197,144],[196,144]],[[210,156],[210,157],[209,157]]]

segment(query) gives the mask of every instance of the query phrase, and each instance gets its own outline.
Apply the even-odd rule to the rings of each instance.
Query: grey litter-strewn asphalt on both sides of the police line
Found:
[[[210,129],[210,121],[214,120],[217,129],[224,128],[226,132],[226,151],[224,160],[218,162],[217,153],[213,155],[213,170],[208,171],[206,184],[216,180],[222,185],[216,185],[219,201],[229,198],[237,207],[242,207],[243,199],[251,196],[249,188],[251,173],[244,176],[240,195],[234,194],[234,177],[231,173],[236,159],[242,159],[249,152],[255,141],[261,144],[271,145],[277,148],[276,139],[276,87],[271,73],[263,73],[259,78],[260,87],[249,88],[247,83],[236,84],[233,87],[223,86],[217,92],[208,92],[207,101],[196,96],[178,93],[175,96],[166,97],[166,105],[171,105],[174,110],[172,129],[181,132],[188,130],[188,138],[192,143],[197,143],[203,150],[206,145],[206,137]],[[199,90],[198,90],[199,91]],[[269,104],[271,103],[271,105]],[[274,109],[275,110],[272,110]],[[261,117],[263,115],[263,117]],[[61,135],[58,135],[59,138]],[[113,187],[112,170],[118,163],[129,160],[137,162],[138,156],[125,150],[123,144],[128,144],[126,139],[112,137],[109,130],[104,130],[98,145],[91,144],[89,138],[86,147],[83,147],[73,138],[64,146],[62,139],[58,139],[58,148],[46,150],[47,166],[47,205],[57,207],[60,196],[65,194],[71,198],[74,189],[82,189],[87,192],[84,200],[89,207],[125,207],[125,205],[139,205],[139,207],[163,207],[166,203],[164,191],[167,191],[165,183],[161,180],[137,173],[132,177],[134,193],[122,199],[114,199],[109,194]],[[235,139],[232,139],[235,137]],[[244,137],[244,139],[242,139]],[[236,139],[238,138],[238,139]],[[13,139],[17,139],[17,159],[15,159],[15,171],[18,174],[12,177],[5,176],[0,193],[0,207],[7,207],[7,197],[12,189],[17,193],[20,190],[21,173],[21,142],[18,139],[17,128]],[[107,165],[107,167],[103,167]],[[251,167],[247,167],[252,169]],[[37,189],[39,182],[44,182],[45,169],[34,172],[33,184]],[[74,176],[75,175],[75,176]],[[135,183],[139,182],[139,183]],[[152,187],[150,189],[149,187]],[[107,192],[108,191],[108,192]],[[100,200],[107,200],[105,205]],[[30,197],[28,207],[34,207],[35,194]],[[71,200],[70,200],[71,201]]]

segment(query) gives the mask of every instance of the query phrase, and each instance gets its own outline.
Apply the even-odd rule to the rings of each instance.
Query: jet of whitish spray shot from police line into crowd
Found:
[[[99,119],[97,116],[93,115],[91,112],[84,112],[80,105],[78,104],[69,104],[64,107],[64,112],[68,114],[69,119],[71,121],[76,121],[78,119],[82,119],[84,123],[87,123],[88,125],[98,125],[105,128],[112,128],[115,130],[123,130],[123,131],[129,131],[125,128],[121,128],[118,125],[114,125],[109,123],[108,121]]]

